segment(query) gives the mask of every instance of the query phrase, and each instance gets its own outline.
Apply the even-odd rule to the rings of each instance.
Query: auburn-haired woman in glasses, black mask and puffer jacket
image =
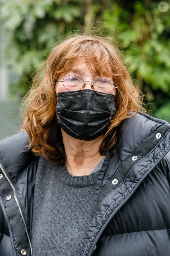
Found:
[[[142,113],[118,49],[63,41],[25,108],[0,142],[0,255],[170,255],[170,125]]]

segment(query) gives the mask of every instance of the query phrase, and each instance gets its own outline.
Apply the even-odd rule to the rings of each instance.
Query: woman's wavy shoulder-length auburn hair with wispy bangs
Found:
[[[138,90],[127,72],[118,48],[102,36],[77,35],[55,46],[33,79],[29,92],[23,99],[23,129],[30,137],[29,148],[43,154],[56,164],[65,162],[61,128],[57,124],[57,97],[55,84],[77,61],[86,60],[89,69],[99,75],[113,78],[116,89],[116,113],[100,145],[99,152],[115,152],[120,142],[122,121],[144,112]]]

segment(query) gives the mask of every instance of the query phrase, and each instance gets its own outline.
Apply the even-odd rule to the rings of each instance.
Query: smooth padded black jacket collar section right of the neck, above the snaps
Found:
[[[168,143],[170,140],[170,124],[168,122],[143,113],[125,119],[118,149],[120,161],[124,162],[147,138],[151,138],[152,134],[158,132],[162,136],[165,131],[167,131],[165,143]],[[150,143],[153,143],[152,139]]]

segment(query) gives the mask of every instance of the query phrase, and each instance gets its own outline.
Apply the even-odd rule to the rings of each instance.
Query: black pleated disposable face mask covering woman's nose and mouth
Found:
[[[58,124],[71,137],[93,140],[104,134],[115,114],[115,96],[90,89],[57,94]]]

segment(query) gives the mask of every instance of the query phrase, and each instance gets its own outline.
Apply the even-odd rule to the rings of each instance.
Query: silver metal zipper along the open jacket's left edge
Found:
[[[25,221],[25,218],[24,218],[24,216],[23,216],[23,212],[22,212],[22,210],[21,210],[21,206],[20,206],[20,204],[19,204],[19,202],[18,202],[18,199],[17,199],[17,197],[16,197],[15,188],[14,188],[12,182],[10,181],[9,177],[7,176],[5,170],[3,169],[1,163],[0,163],[0,168],[1,168],[1,171],[3,172],[4,176],[6,177],[7,181],[9,182],[11,188],[13,189],[14,199],[15,199],[15,201],[16,201],[16,204],[17,204],[17,206],[18,206],[19,212],[20,212],[20,214],[21,214],[21,218],[22,218],[22,220],[23,220],[23,224],[24,224],[24,227],[25,227],[25,230],[26,230],[26,235],[27,235],[27,237],[28,237],[28,242],[29,242],[29,245],[30,245],[31,256],[33,256],[33,250],[32,250],[31,240],[30,240],[30,237],[29,237],[29,234],[28,234],[28,230],[27,230],[27,226],[26,226],[26,221]]]

